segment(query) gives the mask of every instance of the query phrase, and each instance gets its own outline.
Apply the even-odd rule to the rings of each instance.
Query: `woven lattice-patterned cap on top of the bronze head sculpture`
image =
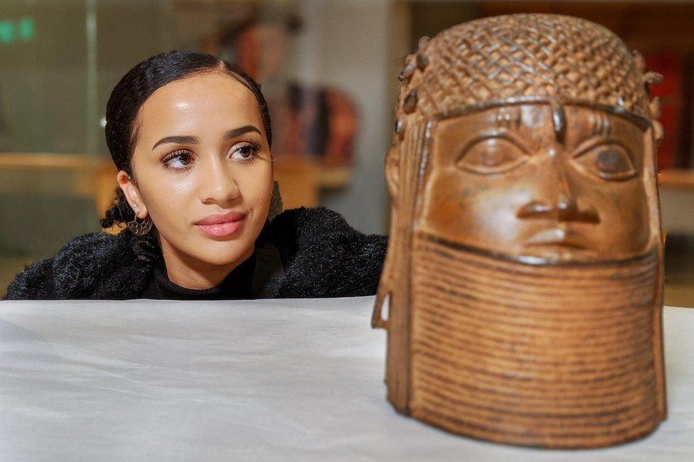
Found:
[[[454,26],[420,43],[403,77],[400,107],[427,118],[522,97],[653,118],[643,58],[607,28],[570,16],[516,14]]]

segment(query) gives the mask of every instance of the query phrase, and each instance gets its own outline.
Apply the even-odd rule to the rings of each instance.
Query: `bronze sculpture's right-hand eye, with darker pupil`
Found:
[[[576,161],[586,171],[604,180],[621,181],[636,176],[636,167],[631,161],[631,156],[619,144],[594,146],[578,154]]]

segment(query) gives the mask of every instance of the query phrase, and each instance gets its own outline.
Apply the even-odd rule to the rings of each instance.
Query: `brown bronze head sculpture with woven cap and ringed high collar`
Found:
[[[623,443],[665,418],[659,78],[568,16],[420,41],[386,156],[372,320],[398,411],[552,448]]]

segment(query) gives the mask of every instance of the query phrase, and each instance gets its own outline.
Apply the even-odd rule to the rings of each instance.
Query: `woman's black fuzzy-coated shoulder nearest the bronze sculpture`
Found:
[[[279,297],[373,295],[388,237],[355,230],[334,210],[287,210],[266,230],[282,255]]]

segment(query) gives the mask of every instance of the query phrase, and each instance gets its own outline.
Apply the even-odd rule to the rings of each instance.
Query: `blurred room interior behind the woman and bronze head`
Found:
[[[666,77],[658,151],[666,304],[694,306],[694,1],[1,0],[0,295],[26,264],[100,231],[114,197],[105,107],[129,68],[197,50],[262,85],[285,208],[388,232],[399,74],[421,36],[547,12],[607,26]]]

